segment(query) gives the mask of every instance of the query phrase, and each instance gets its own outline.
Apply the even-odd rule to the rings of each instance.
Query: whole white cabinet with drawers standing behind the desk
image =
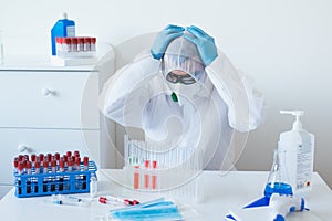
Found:
[[[106,151],[107,160],[115,159],[108,147],[112,133],[105,131],[97,108],[103,84],[114,72],[113,51],[87,66],[23,63],[0,65],[0,186],[12,183],[19,154],[80,150],[101,165]]]

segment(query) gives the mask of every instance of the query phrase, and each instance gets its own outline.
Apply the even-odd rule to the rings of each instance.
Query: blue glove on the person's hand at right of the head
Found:
[[[200,60],[208,66],[218,56],[215,39],[195,25],[188,27],[187,31],[193,35],[185,34],[184,38],[196,45]]]

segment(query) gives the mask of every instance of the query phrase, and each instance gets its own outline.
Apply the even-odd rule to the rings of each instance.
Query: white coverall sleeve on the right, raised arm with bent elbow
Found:
[[[206,73],[228,106],[230,126],[238,131],[256,129],[262,122],[263,97],[253,88],[253,81],[236,70],[221,51]]]

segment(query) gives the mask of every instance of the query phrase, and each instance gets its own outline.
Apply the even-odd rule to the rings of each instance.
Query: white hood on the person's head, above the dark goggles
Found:
[[[186,34],[190,33],[186,32]],[[205,65],[199,57],[196,45],[184,36],[169,43],[162,61],[162,70],[165,77],[175,70],[188,73],[197,82],[205,77]]]

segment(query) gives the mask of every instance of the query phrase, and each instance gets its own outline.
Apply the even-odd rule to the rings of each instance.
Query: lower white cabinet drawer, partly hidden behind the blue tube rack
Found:
[[[98,165],[100,130],[0,129],[0,183],[13,181],[13,159],[19,154],[55,154],[80,150]],[[24,150],[27,148],[27,150]],[[24,150],[22,152],[19,149]],[[90,154],[90,155],[89,155]]]

